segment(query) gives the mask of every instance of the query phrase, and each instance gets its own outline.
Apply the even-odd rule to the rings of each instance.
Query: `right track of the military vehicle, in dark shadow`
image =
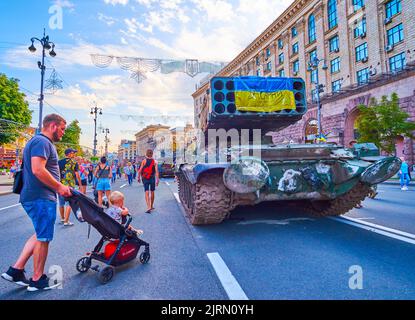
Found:
[[[358,183],[349,192],[333,200],[310,201],[307,212],[316,217],[340,216],[363,201],[370,192],[370,186]]]

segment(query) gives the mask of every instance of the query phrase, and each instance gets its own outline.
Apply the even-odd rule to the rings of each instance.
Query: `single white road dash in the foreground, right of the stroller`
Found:
[[[213,268],[215,269],[216,275],[218,276],[219,281],[225,289],[229,299],[249,300],[219,253],[208,253],[207,256]]]

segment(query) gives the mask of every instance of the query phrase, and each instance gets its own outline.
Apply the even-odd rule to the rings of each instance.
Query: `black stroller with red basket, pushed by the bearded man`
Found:
[[[94,250],[78,260],[76,269],[80,273],[94,270],[98,272],[100,282],[106,284],[113,278],[115,267],[134,260],[141,246],[145,249],[140,254],[140,262],[146,264],[150,260],[150,245],[138,238],[136,230],[130,228],[131,215],[125,216],[126,223],[123,225],[107,215],[104,208],[78,191],[72,190],[72,197],[67,200],[73,212],[81,209],[83,220],[102,235]],[[92,265],[93,260],[104,263],[106,267]]]

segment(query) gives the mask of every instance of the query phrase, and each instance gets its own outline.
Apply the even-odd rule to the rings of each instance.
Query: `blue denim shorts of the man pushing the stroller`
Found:
[[[22,203],[22,206],[32,219],[37,240],[41,242],[52,241],[56,220],[56,202],[39,199]]]

